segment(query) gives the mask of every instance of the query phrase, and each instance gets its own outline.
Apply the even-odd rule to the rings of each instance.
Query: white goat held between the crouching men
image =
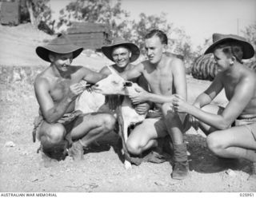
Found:
[[[122,77],[118,75],[118,73],[109,67],[111,74],[102,79],[102,81],[98,81],[96,85],[94,85],[95,90],[97,93],[94,93],[94,95],[91,95],[91,97],[98,97],[101,98],[102,95],[112,95],[112,94],[119,94],[125,96],[123,101],[121,101],[118,104],[118,108],[116,109],[117,113],[117,119],[119,124],[119,135],[122,138],[122,149],[125,155],[125,168],[131,168],[130,164],[130,154],[126,148],[126,141],[128,138],[128,128],[130,125],[135,125],[139,122],[142,122],[145,120],[146,114],[139,115],[136,110],[133,108],[132,102],[130,101],[130,98],[127,97],[130,93],[136,92],[135,88],[138,88],[139,86],[136,83],[133,83],[131,81],[126,81]],[[83,113],[90,107],[82,108],[82,105],[86,105],[89,98],[90,93],[84,93],[84,96],[81,96],[78,101],[78,109],[82,110]],[[82,99],[84,98],[84,99]],[[95,101],[95,99],[93,99]],[[102,101],[102,99],[100,99]],[[98,105],[96,108],[98,109],[104,109],[104,112],[107,112],[106,107],[103,105],[104,101],[102,102],[102,105]],[[88,105],[86,105],[88,106]],[[94,108],[95,109],[95,108]]]

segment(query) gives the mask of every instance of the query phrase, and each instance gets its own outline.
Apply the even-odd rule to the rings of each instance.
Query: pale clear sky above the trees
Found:
[[[71,1],[50,0],[54,16]],[[256,22],[256,0],[122,0],[122,9],[134,20],[141,13],[166,13],[167,21],[185,30],[194,46],[213,33],[242,36],[242,30]]]

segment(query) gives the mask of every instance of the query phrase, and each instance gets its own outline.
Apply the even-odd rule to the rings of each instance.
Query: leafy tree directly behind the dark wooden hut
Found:
[[[121,0],[77,0],[70,2],[66,9],[60,11],[58,28],[70,26],[72,21],[104,23],[110,26],[114,37],[126,27],[129,13],[121,9]]]

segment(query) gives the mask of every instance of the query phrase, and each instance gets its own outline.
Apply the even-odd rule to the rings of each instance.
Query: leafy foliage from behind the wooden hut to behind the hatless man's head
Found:
[[[142,13],[138,21],[130,20],[129,13],[121,8],[121,0],[76,0],[61,10],[58,28],[70,26],[72,22],[95,22],[110,26],[112,37],[122,37],[136,43],[145,54],[144,37],[153,29],[164,31],[169,38],[169,50],[184,57],[190,62],[194,56],[190,38],[184,30],[175,28],[168,23],[166,14],[149,15]]]

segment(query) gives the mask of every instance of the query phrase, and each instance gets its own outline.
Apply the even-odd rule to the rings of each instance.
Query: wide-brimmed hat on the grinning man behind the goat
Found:
[[[112,57],[113,49],[118,46],[125,46],[128,49],[130,49],[131,56],[130,56],[130,62],[136,61],[139,57],[140,50],[138,49],[138,46],[136,46],[132,42],[126,42],[122,38],[114,38],[113,42],[109,46],[102,46],[102,53],[106,57],[108,57],[111,61],[114,61]]]

